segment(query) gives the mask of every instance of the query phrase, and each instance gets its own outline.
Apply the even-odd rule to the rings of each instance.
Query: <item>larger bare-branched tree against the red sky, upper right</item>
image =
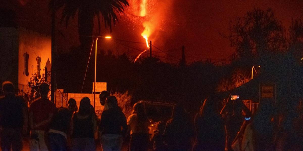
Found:
[[[252,60],[264,53],[285,50],[284,28],[271,9],[254,8],[244,17],[237,17],[228,29],[229,35],[221,35],[230,40],[239,59]]]

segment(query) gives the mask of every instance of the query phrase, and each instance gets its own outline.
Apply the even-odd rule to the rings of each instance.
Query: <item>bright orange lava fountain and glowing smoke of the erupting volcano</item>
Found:
[[[153,40],[158,46],[163,45],[163,37],[158,36],[159,34],[166,33],[171,26],[164,26],[167,24],[167,8],[171,7],[171,1],[167,0],[165,2],[160,0],[129,0],[131,5],[127,12],[127,24],[129,24],[129,30],[133,30],[133,35],[138,37],[140,34],[144,38],[145,45],[140,48],[140,54],[135,59],[135,61],[143,54],[142,51],[146,53],[150,50],[150,41]],[[138,39],[140,39],[138,37]],[[161,39],[161,40],[159,40]],[[143,40],[143,39],[142,39]],[[140,40],[141,41],[141,40]],[[146,46],[146,47],[145,47]],[[147,50],[145,50],[147,49]],[[163,54],[155,54],[162,56]]]

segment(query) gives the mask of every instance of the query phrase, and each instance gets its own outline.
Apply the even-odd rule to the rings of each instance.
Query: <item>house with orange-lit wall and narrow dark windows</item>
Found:
[[[0,82],[12,81],[20,95],[34,73],[40,78],[47,71],[50,81],[51,61],[51,36],[23,27],[0,28]]]

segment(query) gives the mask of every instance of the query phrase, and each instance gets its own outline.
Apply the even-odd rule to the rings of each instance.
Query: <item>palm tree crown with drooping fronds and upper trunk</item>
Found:
[[[101,21],[104,21],[105,28],[109,27],[112,32],[112,21],[115,26],[118,21],[116,13],[119,15],[123,13],[123,5],[129,6],[127,0],[51,0],[49,2],[50,9],[63,8],[61,22],[65,19],[66,26],[78,11],[78,33],[82,49],[89,48],[92,43],[92,37],[83,37],[83,35],[92,35],[95,15],[98,18],[99,33]]]

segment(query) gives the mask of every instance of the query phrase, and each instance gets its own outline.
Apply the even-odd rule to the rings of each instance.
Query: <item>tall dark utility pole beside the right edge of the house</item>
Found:
[[[55,77],[55,53],[56,53],[56,45],[55,45],[55,30],[56,30],[56,8],[52,8],[52,48],[51,48],[51,53],[52,53],[52,62],[51,62],[51,101],[54,102],[55,98],[55,88],[56,88],[56,77]]]

